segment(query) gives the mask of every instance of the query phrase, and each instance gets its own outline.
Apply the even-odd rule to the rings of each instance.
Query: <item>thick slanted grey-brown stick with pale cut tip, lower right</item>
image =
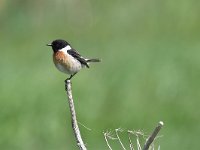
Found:
[[[149,149],[149,146],[154,141],[155,137],[157,136],[158,132],[160,131],[160,129],[162,128],[163,125],[164,125],[164,123],[162,121],[160,121],[158,123],[157,127],[154,129],[153,133],[149,136],[146,143],[144,144],[143,150]]]

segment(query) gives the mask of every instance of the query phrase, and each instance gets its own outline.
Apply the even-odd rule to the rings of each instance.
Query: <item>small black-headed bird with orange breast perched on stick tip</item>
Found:
[[[62,39],[57,39],[47,44],[53,49],[53,62],[56,68],[70,77],[70,80],[82,68],[89,68],[90,62],[100,62],[100,59],[86,59],[82,57],[70,44]]]

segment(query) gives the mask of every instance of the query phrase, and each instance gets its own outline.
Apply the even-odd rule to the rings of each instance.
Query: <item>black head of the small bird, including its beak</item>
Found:
[[[51,44],[47,44],[47,46],[51,46],[54,52],[61,50],[62,48],[69,45],[69,43],[65,40],[57,39],[54,40]]]

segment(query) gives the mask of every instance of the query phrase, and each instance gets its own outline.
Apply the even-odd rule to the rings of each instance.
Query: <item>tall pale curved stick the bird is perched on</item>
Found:
[[[73,128],[74,135],[76,138],[76,143],[80,150],[87,150],[87,148],[85,147],[83,140],[81,138],[81,133],[80,133],[78,123],[76,120],[76,112],[75,112],[75,108],[74,108],[74,101],[73,101],[73,97],[72,97],[72,89],[71,89],[70,80],[65,80],[65,90],[66,90],[67,96],[68,96],[69,108],[70,108],[71,118],[72,118],[72,128]]]

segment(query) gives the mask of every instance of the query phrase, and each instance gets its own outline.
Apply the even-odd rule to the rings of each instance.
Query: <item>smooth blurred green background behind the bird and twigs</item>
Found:
[[[195,0],[0,0],[0,149],[77,149],[67,76],[45,46],[57,38],[102,59],[73,79],[78,121],[92,129],[80,126],[88,149],[108,149],[103,131],[148,134],[160,120],[161,149],[199,149],[199,8]]]

